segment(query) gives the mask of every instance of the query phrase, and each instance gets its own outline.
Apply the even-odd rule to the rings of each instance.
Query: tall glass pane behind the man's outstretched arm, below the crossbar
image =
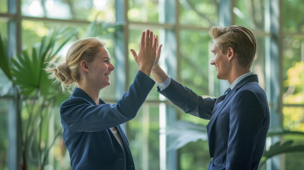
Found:
[[[180,82],[198,95],[215,96],[219,93],[219,81],[216,69],[210,64],[213,54],[213,42],[208,31],[180,31]],[[202,128],[207,120],[185,114],[177,109],[178,119],[201,124]],[[178,150],[179,166],[182,170],[205,170],[208,168],[210,156],[207,141],[189,142]],[[191,168],[190,168],[191,167]]]

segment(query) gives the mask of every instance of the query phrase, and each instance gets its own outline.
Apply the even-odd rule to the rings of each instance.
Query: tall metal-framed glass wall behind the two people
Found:
[[[56,54],[56,57],[61,59],[65,58],[68,47],[77,39],[87,36],[103,39],[116,69],[111,74],[112,85],[101,91],[100,96],[106,102],[115,103],[122,93],[128,90],[138,70],[129,49],[138,50],[141,32],[151,29],[159,35],[159,41],[163,44],[160,63],[170,77],[200,95],[220,96],[224,86],[221,84],[222,81],[216,78],[215,68],[210,65],[212,41],[208,31],[212,26],[219,25],[220,14],[226,11],[230,14],[228,19],[232,25],[246,26],[256,36],[258,47],[252,71],[258,75],[259,84],[266,92],[270,92],[273,88],[267,75],[269,68],[267,40],[276,39],[274,45],[279,46],[278,56],[275,61],[270,62],[278,63],[279,73],[278,77],[272,77],[271,81],[279,86],[279,90],[274,93],[277,93],[280,100],[274,104],[273,101],[270,102],[271,107],[278,106],[275,109],[279,119],[272,121],[276,121],[281,130],[304,132],[304,12],[302,10],[304,3],[302,0],[275,1],[282,2],[281,6],[278,5],[279,9],[273,12],[279,12],[279,16],[282,17],[278,19],[280,21],[278,33],[267,29],[268,24],[276,22],[269,20],[271,18],[269,15],[278,15],[268,12],[270,0],[230,0],[229,2],[231,6],[220,8],[223,1],[219,0],[0,0],[0,33],[6,38],[9,37],[8,45],[11,47],[8,49],[9,54],[15,54],[16,51],[20,53],[22,50],[32,54],[32,47],[39,46],[42,37],[50,35],[53,30],[66,28],[70,33],[75,32],[75,34]],[[17,9],[18,6],[20,9]],[[119,13],[122,14],[118,16]],[[95,20],[98,22],[94,22]],[[111,24],[114,25],[111,27]],[[60,42],[62,39],[58,41]],[[6,103],[9,97],[20,95],[18,91],[3,95],[5,87],[8,87],[4,86],[3,82],[7,81],[10,80],[2,74],[0,77],[2,84],[0,169],[3,170],[12,166],[10,163],[14,164],[14,161],[16,164],[22,162],[18,159],[7,160],[6,157],[10,152],[8,146],[11,140],[7,136],[7,131],[8,128],[13,128],[5,122],[7,115],[12,111],[7,109]],[[48,135],[42,135],[42,138],[50,139],[49,143],[54,139],[54,145],[44,164],[49,170],[71,169],[62,132],[55,138],[56,130],[61,127],[58,107],[60,101],[67,97],[68,95],[61,96],[57,100],[57,105],[50,108],[52,115],[46,122],[50,126],[44,127],[45,131],[43,131]],[[21,127],[24,127],[26,122],[31,122],[29,119],[31,113],[24,111],[29,101],[20,100],[19,97],[15,98],[16,106],[20,106],[20,110],[16,110],[15,123],[20,118],[23,124]],[[155,85],[135,119],[123,124],[136,169],[207,169],[210,158],[206,140],[191,141],[176,150],[169,149],[172,141],[174,143],[174,138],[166,136],[167,130],[180,121],[202,127],[208,123],[174,107],[157,93]],[[16,138],[18,135],[19,132],[16,132]],[[301,135],[286,135],[282,137],[282,142],[291,139],[294,140],[295,145],[303,143]],[[48,142],[34,141],[36,142],[34,144],[40,148],[45,148],[48,144]],[[28,159],[30,170],[36,170],[41,165],[37,158],[39,147],[30,149],[31,155]],[[21,157],[22,147],[18,150],[16,156]],[[281,167],[286,170],[304,166],[301,162],[304,157],[301,154],[288,153],[282,157],[281,160],[284,161],[281,161]]]

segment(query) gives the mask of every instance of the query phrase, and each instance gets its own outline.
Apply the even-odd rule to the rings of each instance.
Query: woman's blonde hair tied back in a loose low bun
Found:
[[[77,40],[68,49],[66,62],[49,63],[45,71],[49,73],[49,78],[54,79],[55,83],[61,85],[62,92],[68,91],[77,86],[80,81],[80,62],[93,62],[96,53],[101,47],[105,47],[105,43],[96,37],[88,37]]]

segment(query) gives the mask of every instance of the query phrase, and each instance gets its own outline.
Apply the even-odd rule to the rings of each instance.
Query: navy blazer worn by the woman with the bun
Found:
[[[129,91],[115,104],[96,105],[75,88],[60,107],[63,138],[73,170],[135,170],[128,139],[119,124],[136,116],[155,82],[138,71]],[[124,150],[110,130],[116,127]]]

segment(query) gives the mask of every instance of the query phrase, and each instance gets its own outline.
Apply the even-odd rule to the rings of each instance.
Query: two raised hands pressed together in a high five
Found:
[[[139,70],[150,77],[153,66],[158,65],[162,45],[158,46],[158,37],[152,31],[143,31],[138,54],[130,49]]]

